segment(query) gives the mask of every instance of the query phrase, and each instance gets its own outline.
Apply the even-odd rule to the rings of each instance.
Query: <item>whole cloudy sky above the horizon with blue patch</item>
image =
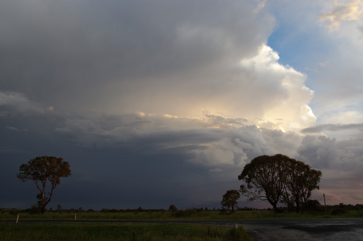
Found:
[[[363,204],[363,0],[3,0],[0,207],[61,157],[47,208],[220,208],[259,155]],[[240,207],[271,207],[239,200]]]

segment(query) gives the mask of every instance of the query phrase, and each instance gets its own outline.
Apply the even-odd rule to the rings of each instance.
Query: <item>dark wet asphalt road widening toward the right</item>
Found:
[[[15,222],[6,220],[5,222]],[[363,241],[363,219],[279,220],[19,220],[19,223],[159,223],[242,225],[256,241]]]

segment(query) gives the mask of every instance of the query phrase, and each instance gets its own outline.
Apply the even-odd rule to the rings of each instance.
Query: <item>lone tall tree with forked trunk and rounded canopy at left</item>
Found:
[[[42,214],[45,212],[45,206],[50,202],[53,190],[60,184],[60,178],[70,176],[71,170],[69,169],[68,162],[63,161],[62,158],[56,157],[36,157],[26,164],[20,165],[20,173],[17,174],[22,182],[32,180],[40,194],[37,198],[40,200],[42,206]],[[47,181],[52,185],[49,196],[46,196],[45,184]]]

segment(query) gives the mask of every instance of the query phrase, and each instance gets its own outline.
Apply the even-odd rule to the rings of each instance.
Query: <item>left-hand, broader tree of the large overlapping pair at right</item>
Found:
[[[238,180],[246,184],[240,186],[240,192],[248,201],[268,200],[274,211],[284,192],[288,178],[291,158],[286,155],[261,155],[245,165]]]

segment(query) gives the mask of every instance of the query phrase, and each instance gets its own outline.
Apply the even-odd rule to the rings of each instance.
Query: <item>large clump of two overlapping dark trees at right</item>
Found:
[[[290,210],[301,211],[311,196],[319,189],[321,171],[286,155],[261,155],[248,163],[238,176],[245,184],[240,186],[248,201],[267,200],[277,211],[281,201]]]

